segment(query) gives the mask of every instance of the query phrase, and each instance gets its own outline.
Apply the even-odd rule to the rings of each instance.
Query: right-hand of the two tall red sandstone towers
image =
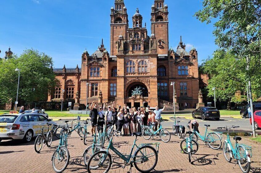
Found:
[[[151,33],[156,37],[156,51],[159,55],[167,55],[169,50],[168,6],[164,0],[155,0],[151,6]]]

